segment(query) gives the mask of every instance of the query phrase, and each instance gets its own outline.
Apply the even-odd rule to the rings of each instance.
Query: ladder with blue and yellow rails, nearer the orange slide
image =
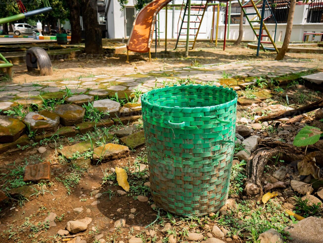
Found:
[[[195,17],[195,20],[193,20],[191,18],[193,21],[190,21],[190,23],[187,23],[187,19],[185,19],[185,17],[187,17],[187,9],[188,9],[188,1],[186,1],[183,17],[181,18],[181,14],[180,14],[180,18],[178,20],[178,24],[179,24],[180,19],[182,20],[182,23],[181,23],[180,30],[177,31],[177,41],[176,41],[175,49],[177,47],[186,47],[186,45],[178,45],[178,44],[179,44],[179,42],[186,42],[186,38],[185,39],[180,39],[180,37],[181,36],[187,36],[187,27],[189,27],[189,29],[190,29],[189,36],[194,36],[194,39],[189,39],[189,43],[191,43],[191,45],[189,44],[189,47],[191,47],[191,49],[194,49],[196,39],[197,39],[197,35],[198,35],[199,31],[200,31],[200,27],[201,27],[202,20],[203,20],[203,17],[204,17],[204,13],[205,13],[205,11],[207,9],[208,1],[209,0],[207,0],[205,4],[203,3],[203,1],[201,1],[200,6],[191,6],[191,9],[198,9],[198,11],[197,11],[197,13],[190,14],[190,16]],[[184,1],[182,3],[181,12],[182,12],[183,6],[184,6]],[[203,10],[203,12],[202,12],[202,10]],[[186,24],[186,28],[185,28],[184,23]],[[177,24],[177,28],[178,28],[178,24]],[[193,24],[193,26],[191,24]]]

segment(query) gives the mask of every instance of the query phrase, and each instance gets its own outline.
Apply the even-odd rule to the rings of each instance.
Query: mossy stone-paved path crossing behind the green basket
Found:
[[[147,73],[132,73],[123,76],[100,75],[80,78],[78,80],[64,80],[55,82],[23,83],[0,87],[0,107],[2,110],[10,109],[12,102],[28,105],[41,103],[39,95],[44,99],[62,97],[68,89],[72,93],[98,95],[99,98],[114,96],[125,98],[136,90],[147,92],[152,88],[172,85],[178,79],[190,78],[195,83],[209,85],[224,85],[234,89],[250,83],[254,76],[267,78],[309,70],[315,63],[307,61],[258,61],[258,62],[232,62],[222,65],[203,65],[166,71],[153,71]],[[222,78],[223,72],[232,76],[242,76],[241,79]]]

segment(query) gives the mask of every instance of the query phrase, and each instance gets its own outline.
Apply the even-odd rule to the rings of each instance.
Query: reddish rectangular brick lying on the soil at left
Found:
[[[27,165],[25,168],[24,182],[50,181],[50,163]]]

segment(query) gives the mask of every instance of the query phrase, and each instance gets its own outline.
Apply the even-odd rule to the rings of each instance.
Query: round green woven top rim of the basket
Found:
[[[158,93],[161,91],[167,91],[167,90],[174,90],[174,89],[183,89],[183,88],[189,88],[190,87],[203,87],[203,89],[223,89],[226,90],[227,93],[231,93],[234,95],[234,99],[227,101],[225,103],[219,104],[219,105],[212,105],[212,106],[202,106],[202,107],[179,107],[179,106],[173,106],[173,107],[169,107],[169,106],[164,106],[164,105],[156,105],[156,104],[151,104],[149,102],[146,101],[146,97],[150,94],[154,94],[154,93]],[[173,86],[168,86],[166,85],[165,87],[161,87],[158,89],[153,89],[150,90],[144,94],[141,95],[141,104],[144,106],[150,106],[150,107],[158,107],[159,110],[163,110],[163,111],[168,111],[168,112],[172,112],[173,110],[176,109],[176,112],[200,112],[201,109],[203,109],[204,112],[207,111],[217,111],[220,109],[223,109],[225,107],[230,107],[231,105],[237,104],[237,100],[238,100],[238,94],[237,92],[235,92],[235,90],[233,90],[233,88],[224,88],[222,85],[221,86],[216,86],[216,85],[202,85],[202,84],[181,84],[181,85],[177,85],[174,84]]]

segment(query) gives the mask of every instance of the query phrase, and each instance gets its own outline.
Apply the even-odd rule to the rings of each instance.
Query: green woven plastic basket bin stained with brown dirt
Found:
[[[141,105],[155,204],[185,216],[219,210],[228,198],[236,92],[166,86],[143,94]]]

